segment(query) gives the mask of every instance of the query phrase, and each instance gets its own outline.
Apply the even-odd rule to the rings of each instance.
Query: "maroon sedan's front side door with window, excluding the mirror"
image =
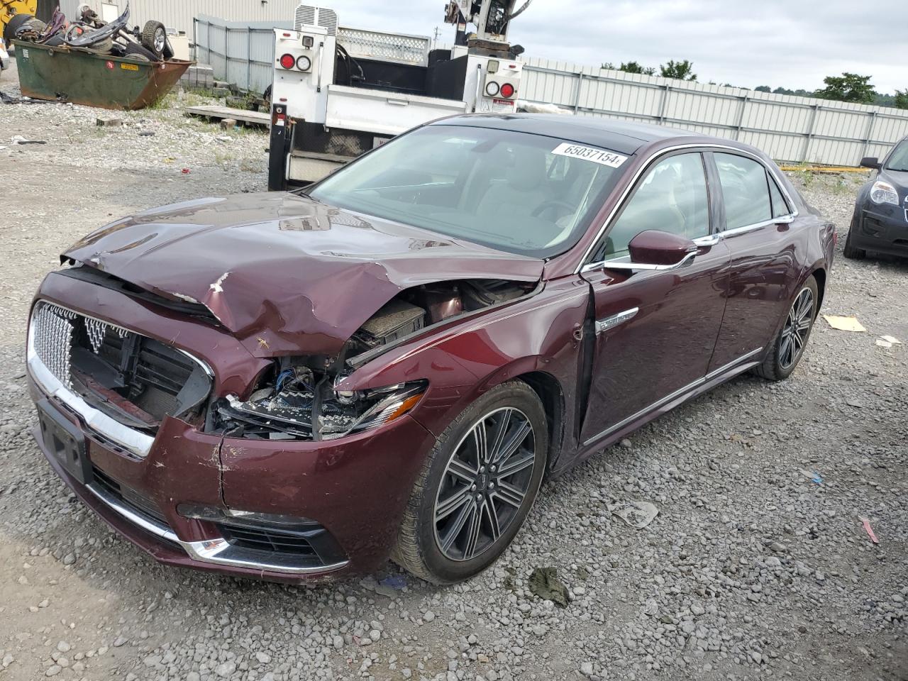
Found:
[[[605,440],[654,410],[667,410],[703,383],[725,312],[729,252],[715,236],[718,196],[702,153],[660,157],[642,174],[583,276],[596,307],[595,350],[584,445]],[[676,270],[628,271],[627,245],[646,230],[698,246]]]

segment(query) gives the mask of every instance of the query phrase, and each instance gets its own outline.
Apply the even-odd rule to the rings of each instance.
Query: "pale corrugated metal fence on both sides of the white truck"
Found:
[[[196,17],[196,59],[217,79],[262,93],[271,84],[274,38],[285,23]],[[758,93],[530,57],[520,98],[577,115],[661,123],[752,144],[776,161],[857,165],[908,135],[908,111]]]

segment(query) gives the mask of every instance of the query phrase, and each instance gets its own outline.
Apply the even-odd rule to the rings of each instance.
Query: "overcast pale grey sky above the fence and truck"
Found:
[[[341,25],[453,40],[445,0],[323,0]],[[908,89],[904,0],[534,0],[511,26],[527,54],[578,64],[694,62],[707,83],[804,88],[843,71]]]

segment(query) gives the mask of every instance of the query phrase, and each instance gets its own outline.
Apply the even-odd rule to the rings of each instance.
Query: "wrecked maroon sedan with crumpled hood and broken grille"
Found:
[[[420,127],[306,192],[165,206],[35,297],[37,441],[158,560],[437,583],[539,485],[753,370],[789,376],[834,228],[764,154],[538,115]]]

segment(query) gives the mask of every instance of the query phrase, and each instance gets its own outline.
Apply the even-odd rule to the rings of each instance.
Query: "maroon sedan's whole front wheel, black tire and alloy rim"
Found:
[[[473,402],[441,434],[419,473],[394,562],[434,584],[489,568],[536,500],[548,437],[542,402],[522,381]]]

